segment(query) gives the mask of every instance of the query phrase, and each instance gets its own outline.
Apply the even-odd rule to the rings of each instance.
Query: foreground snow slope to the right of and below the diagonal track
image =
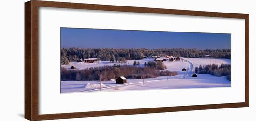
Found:
[[[146,83],[129,84],[117,86],[115,88],[103,88],[101,91],[115,90],[148,90],[148,89],[184,89],[184,88],[209,88],[209,87],[230,87],[230,81],[224,77],[216,77],[209,74],[199,74],[198,78],[177,78],[166,77],[158,81],[149,81]],[[99,90],[93,90],[99,91]]]

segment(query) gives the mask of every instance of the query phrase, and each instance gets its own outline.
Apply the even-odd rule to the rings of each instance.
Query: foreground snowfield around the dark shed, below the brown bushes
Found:
[[[89,83],[89,84],[88,84]],[[61,93],[68,92],[97,92],[100,91],[99,81],[61,81]],[[93,85],[88,87],[88,85]],[[145,89],[185,89],[230,87],[231,82],[225,77],[216,77],[209,74],[198,74],[198,77],[183,78],[176,76],[161,76],[157,78],[127,79],[126,84],[115,84],[115,81],[101,81],[101,91],[145,90]]]

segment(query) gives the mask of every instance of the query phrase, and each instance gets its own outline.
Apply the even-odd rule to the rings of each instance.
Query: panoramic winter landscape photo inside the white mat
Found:
[[[61,93],[231,87],[231,34],[60,28]]]

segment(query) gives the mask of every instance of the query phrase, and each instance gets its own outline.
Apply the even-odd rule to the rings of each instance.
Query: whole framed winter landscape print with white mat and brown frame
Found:
[[[25,3],[28,120],[248,106],[248,14]]]

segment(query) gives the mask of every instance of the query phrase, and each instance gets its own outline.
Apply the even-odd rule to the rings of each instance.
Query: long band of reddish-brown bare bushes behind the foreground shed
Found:
[[[100,79],[101,81],[107,81],[120,76],[131,79],[142,79],[155,78],[158,76],[174,76],[178,74],[175,71],[160,71],[155,70],[155,68],[158,67],[120,66],[117,64],[114,66],[91,67],[83,70],[68,70],[61,67],[61,81],[95,81]]]

